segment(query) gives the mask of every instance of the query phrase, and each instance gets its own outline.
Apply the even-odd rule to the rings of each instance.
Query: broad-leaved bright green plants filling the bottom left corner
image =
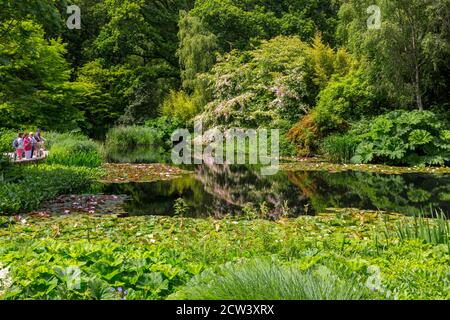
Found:
[[[77,229],[85,232],[91,228],[88,223]],[[172,291],[174,284],[186,281],[189,276],[181,268],[184,261],[170,249],[161,252],[148,244],[123,246],[109,239],[89,240],[84,235],[69,241],[8,242],[7,247],[0,248],[0,256],[2,261],[12,262],[7,274],[16,281],[12,281],[0,299],[161,299]],[[22,263],[16,264],[18,261]],[[80,271],[78,288],[68,285],[75,267]]]

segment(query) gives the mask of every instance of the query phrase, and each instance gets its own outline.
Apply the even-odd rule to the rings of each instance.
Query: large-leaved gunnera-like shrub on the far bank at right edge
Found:
[[[430,111],[393,111],[376,117],[361,134],[352,161],[394,165],[445,165],[450,130]]]

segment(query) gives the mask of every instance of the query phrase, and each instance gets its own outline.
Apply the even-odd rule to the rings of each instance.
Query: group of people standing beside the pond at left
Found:
[[[20,132],[13,141],[13,147],[16,149],[15,159],[20,161],[24,156],[27,160],[40,157],[44,150],[44,142],[40,129],[36,131],[36,134]]]

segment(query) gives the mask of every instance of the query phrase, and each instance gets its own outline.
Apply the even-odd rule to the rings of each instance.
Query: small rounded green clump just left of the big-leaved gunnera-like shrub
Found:
[[[321,145],[321,152],[328,161],[348,163],[355,155],[359,139],[351,134],[331,135]]]

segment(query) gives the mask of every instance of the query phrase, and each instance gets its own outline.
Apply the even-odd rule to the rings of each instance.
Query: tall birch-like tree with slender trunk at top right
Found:
[[[419,110],[447,88],[450,0],[380,0],[380,28],[369,28],[372,0],[344,0],[338,33],[364,56],[373,83],[394,101]],[[448,74],[448,73],[447,73]],[[447,77],[448,78],[448,77]]]

